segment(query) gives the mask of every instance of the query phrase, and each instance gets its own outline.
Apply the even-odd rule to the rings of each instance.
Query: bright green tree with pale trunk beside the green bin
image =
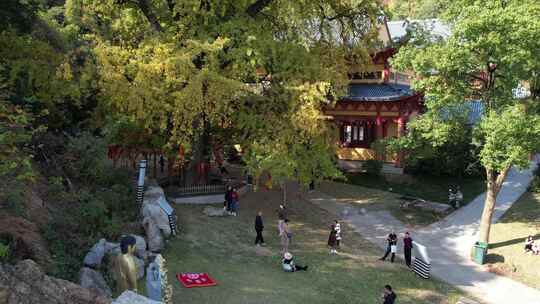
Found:
[[[449,140],[449,134],[441,132],[444,109],[465,108],[470,99],[482,102],[484,114],[474,126],[472,143],[487,176],[480,241],[488,243],[496,198],[508,171],[527,167],[540,140],[540,117],[533,106],[538,97],[520,99],[513,94],[520,83],[538,75],[540,4],[460,0],[445,14],[453,23],[449,39],[403,47],[393,63],[414,71],[414,87],[425,92],[428,111],[435,113],[420,118],[421,123],[440,126],[421,130],[424,138]],[[434,119],[439,119],[437,125]],[[452,123],[451,117],[447,121]]]

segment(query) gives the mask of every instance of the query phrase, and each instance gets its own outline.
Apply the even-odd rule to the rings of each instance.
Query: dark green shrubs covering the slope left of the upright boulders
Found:
[[[57,156],[58,162],[64,164],[66,176],[77,181],[77,187],[68,191],[65,177],[48,179],[48,199],[57,202],[58,210],[43,234],[53,254],[51,274],[77,280],[88,249],[100,238],[117,240],[126,232],[125,224],[136,219],[138,208],[133,173],[110,166],[105,139],[83,133],[66,140],[56,143],[66,147]]]

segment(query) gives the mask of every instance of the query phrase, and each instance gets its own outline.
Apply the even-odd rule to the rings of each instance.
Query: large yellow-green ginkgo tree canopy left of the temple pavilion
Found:
[[[66,1],[110,116],[192,163],[238,143],[253,172],[308,183],[337,174],[322,108],[376,49],[382,14],[376,0]]]

